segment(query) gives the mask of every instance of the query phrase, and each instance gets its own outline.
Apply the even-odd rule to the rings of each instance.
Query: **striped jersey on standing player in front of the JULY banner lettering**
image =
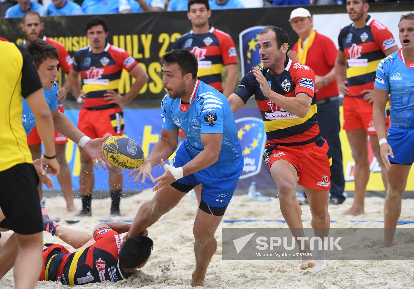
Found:
[[[92,53],[91,46],[79,49],[75,54],[73,69],[82,75],[82,90],[86,95],[83,107],[118,107],[117,104],[108,104],[103,95],[107,90],[118,92],[122,69],[129,72],[136,65],[137,61],[128,52],[109,43],[102,53]]]

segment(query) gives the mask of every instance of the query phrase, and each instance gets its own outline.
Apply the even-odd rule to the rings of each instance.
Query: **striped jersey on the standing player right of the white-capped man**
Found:
[[[371,16],[363,28],[356,29],[354,24],[344,27],[338,44],[347,56],[347,96],[354,97],[363,97],[362,90],[374,88],[378,63],[386,57],[384,51],[397,46],[391,32]]]

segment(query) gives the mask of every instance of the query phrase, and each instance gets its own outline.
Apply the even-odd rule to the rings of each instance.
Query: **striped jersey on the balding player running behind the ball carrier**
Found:
[[[296,97],[298,93],[305,93],[312,98],[309,112],[305,117],[300,118],[286,112],[265,97],[253,72],[246,73],[234,93],[241,97],[245,103],[253,94],[255,95],[265,124],[268,143],[298,146],[320,141],[322,137],[316,119],[315,73],[313,70],[306,65],[293,62],[289,58],[285,62],[285,70],[282,73],[272,74],[264,67],[259,70],[265,75],[267,84],[274,92],[286,97]]]

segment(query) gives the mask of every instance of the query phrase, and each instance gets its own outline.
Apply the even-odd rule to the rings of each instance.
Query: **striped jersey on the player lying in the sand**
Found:
[[[95,243],[74,253],[58,253],[46,259],[45,280],[65,285],[103,281],[117,282],[128,277],[119,264],[121,238],[110,228],[94,233]]]

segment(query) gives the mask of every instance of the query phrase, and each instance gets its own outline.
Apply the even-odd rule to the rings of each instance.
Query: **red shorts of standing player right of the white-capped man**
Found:
[[[344,126],[345,131],[363,127],[367,134],[377,134],[372,120],[373,104],[362,97],[344,97]],[[386,127],[390,126],[390,116],[385,119]]]

